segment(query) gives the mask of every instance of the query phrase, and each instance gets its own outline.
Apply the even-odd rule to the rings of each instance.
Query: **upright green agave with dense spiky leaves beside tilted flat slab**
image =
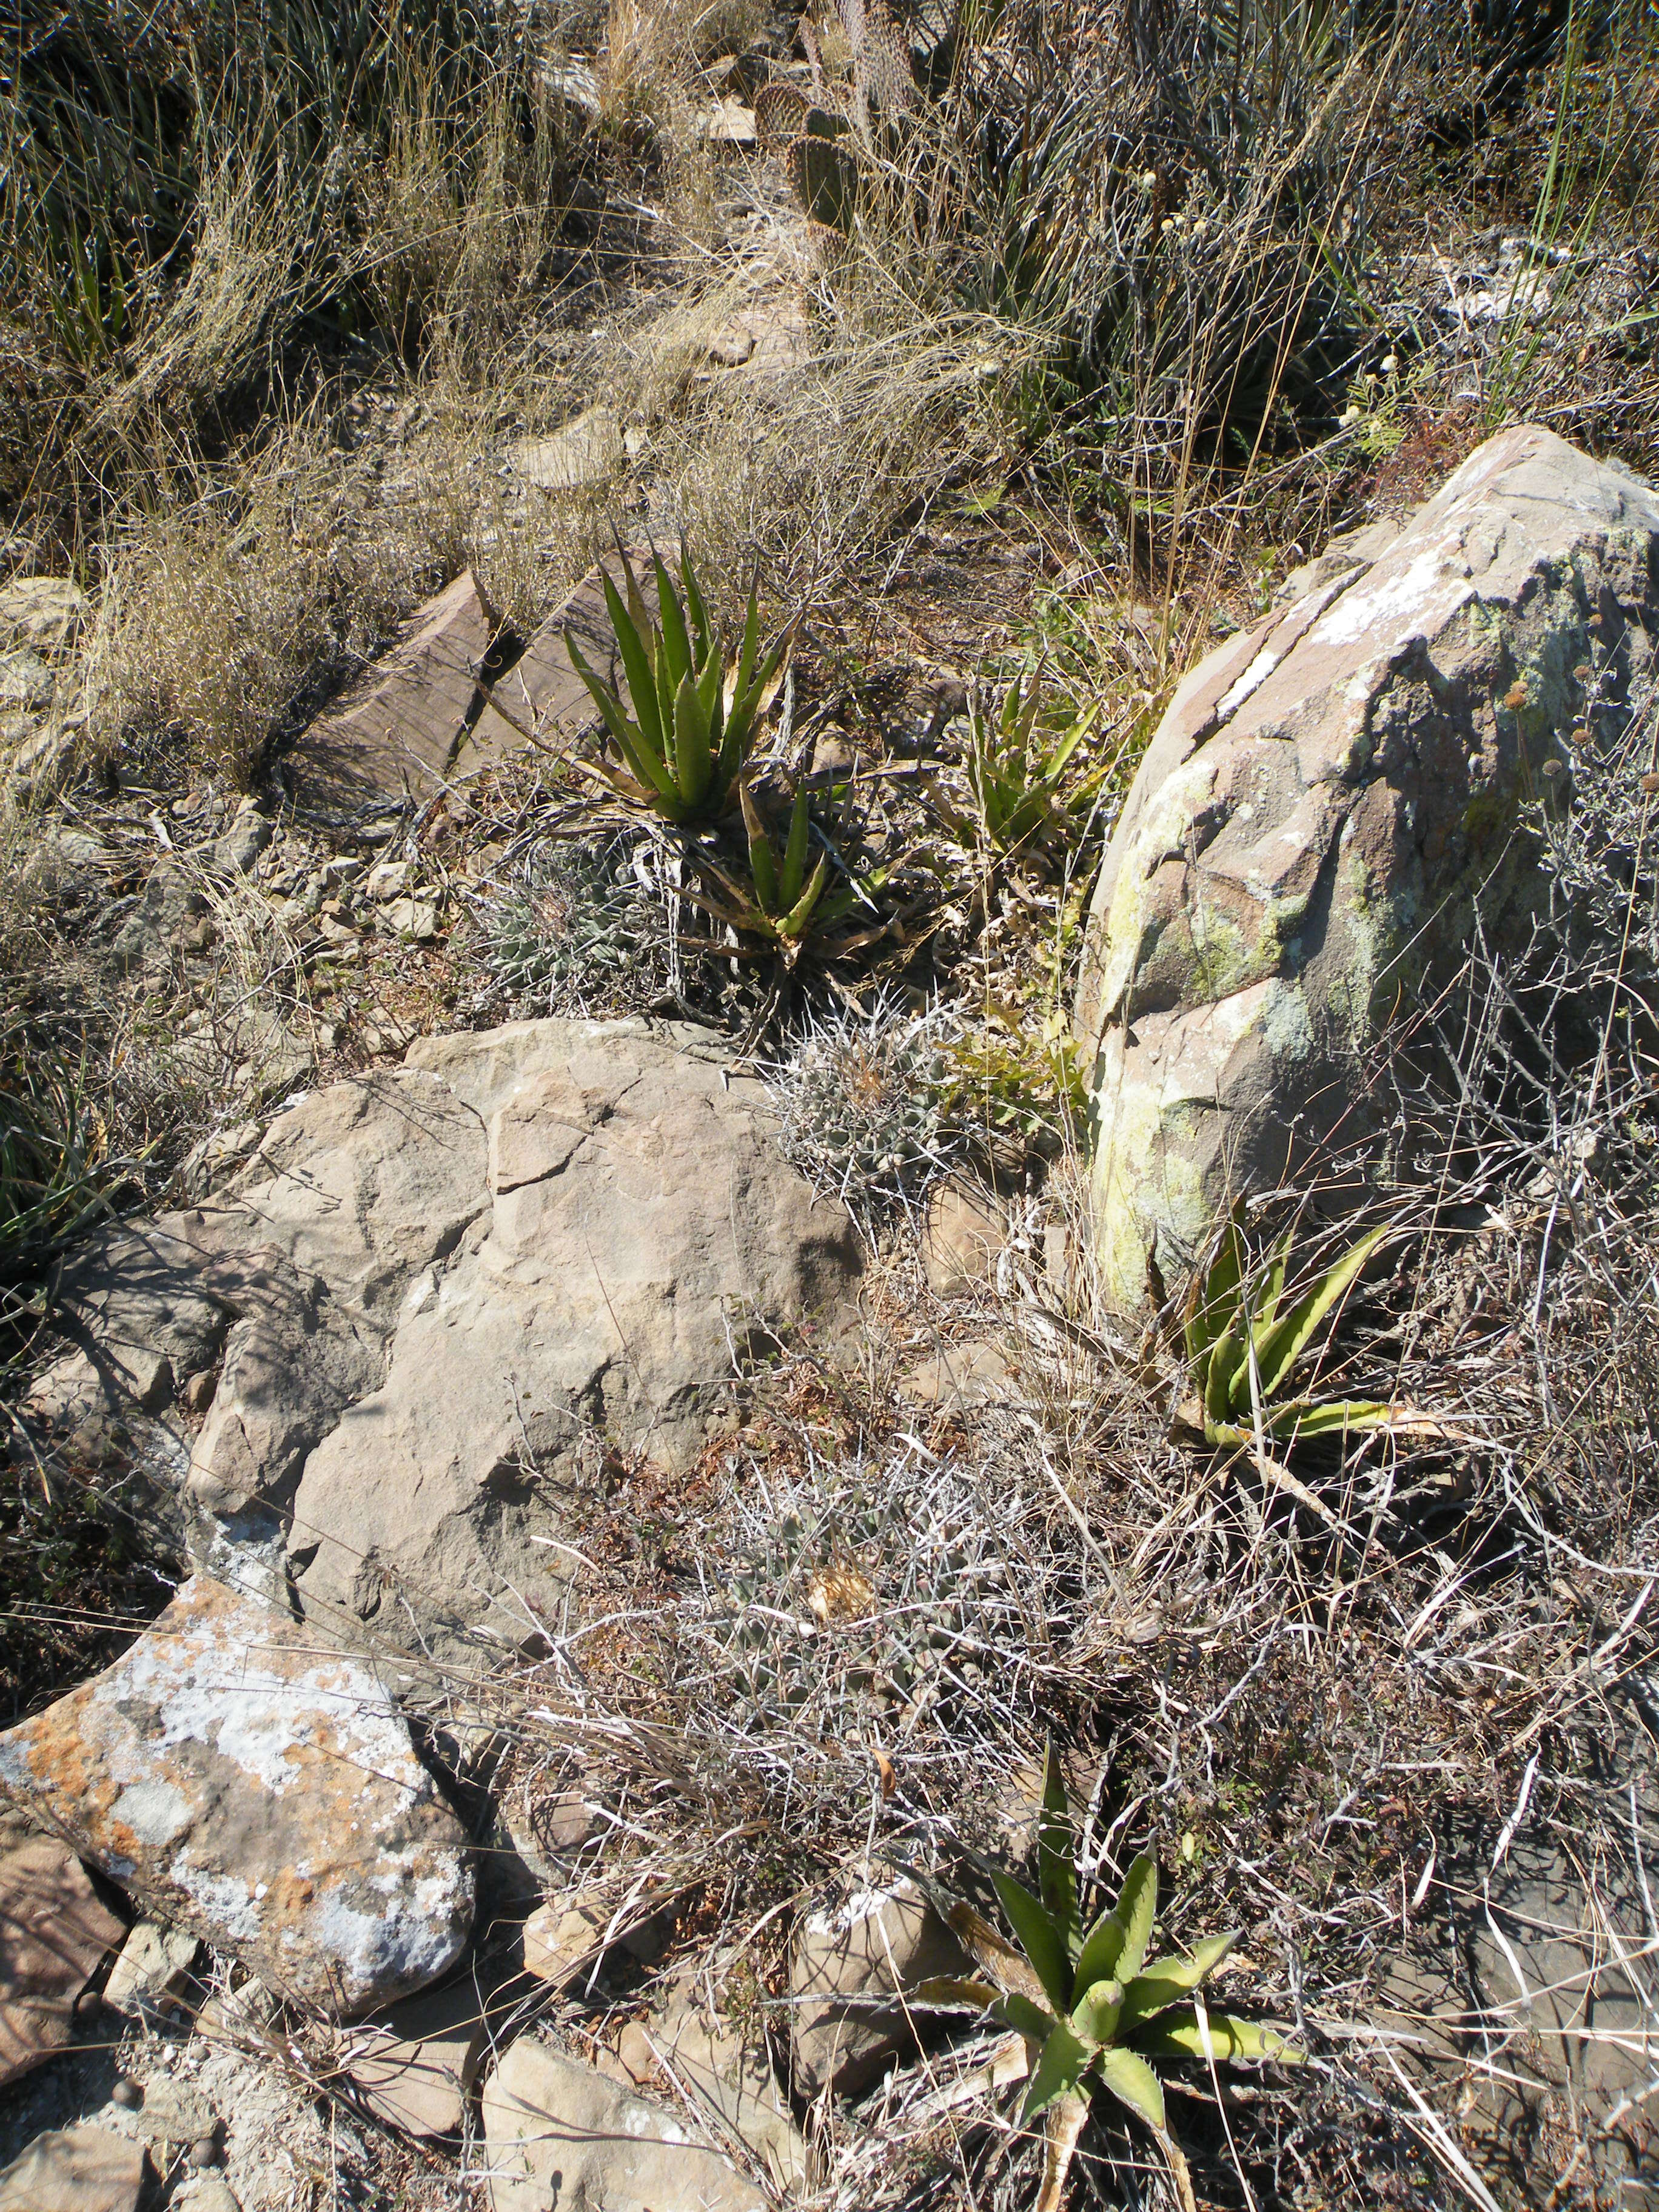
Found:
[[[776,695],[790,633],[761,655],[761,622],[750,591],[743,644],[732,661],[697,588],[690,553],[679,557],[684,597],[653,553],[657,622],[646,613],[626,553],[622,573],[626,604],[604,568],[599,577],[617,633],[628,706],[588,668],[575,637],[564,633],[571,666],[588,686],[626,763],[626,774],[595,772],[622,799],[646,805],[670,823],[714,821],[732,805],[732,787]]]

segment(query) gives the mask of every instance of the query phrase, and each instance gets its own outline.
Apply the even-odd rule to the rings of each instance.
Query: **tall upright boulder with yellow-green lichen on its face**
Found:
[[[1396,1015],[1475,909],[1524,927],[1524,807],[1652,681],[1659,493],[1511,429],[1285,597],[1179,686],[1095,891],[1077,1026],[1121,1312],[1234,1194],[1380,1161]]]

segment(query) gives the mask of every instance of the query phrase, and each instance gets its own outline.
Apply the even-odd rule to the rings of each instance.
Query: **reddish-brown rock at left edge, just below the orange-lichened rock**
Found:
[[[0,1858],[0,2081],[62,2051],[75,1997],[124,1933],[55,1836],[27,1836]]]

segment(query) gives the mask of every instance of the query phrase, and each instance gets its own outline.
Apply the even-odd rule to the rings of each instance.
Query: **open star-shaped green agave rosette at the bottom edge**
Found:
[[[993,1978],[922,1982],[922,2004],[973,2008],[1018,2028],[1033,2053],[1022,2124],[1046,2119],[1048,2157],[1042,2208],[1057,2208],[1077,2148],[1088,2097],[1108,2090],[1152,2128],[1190,2203],[1186,2161],[1168,2137],[1157,2057],[1298,2059],[1274,2028],[1217,2013],[1199,1997],[1234,1944],[1212,1936],[1186,1958],[1148,1964],[1157,1918],[1157,1863],[1141,1851],[1115,1902],[1088,1929],[1077,1911],[1077,1838],[1066,1807],[1060,1761],[1048,1747],[1037,1816],[1037,1893],[1000,1867],[982,1871],[1018,1938],[1002,1942],[969,1905],[947,1920],[969,1955]]]

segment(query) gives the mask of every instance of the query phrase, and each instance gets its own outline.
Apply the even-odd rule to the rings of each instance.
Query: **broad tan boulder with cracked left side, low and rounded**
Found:
[[[111,1389],[153,1347],[157,1387],[212,1391],[199,1564],[274,1590],[276,1540],[310,1615],[453,1657],[533,1639],[580,1486],[690,1464],[743,1358],[847,1312],[858,1265],[703,1033],[518,1022],[299,1102],[212,1206],[91,1245],[62,1305]]]

